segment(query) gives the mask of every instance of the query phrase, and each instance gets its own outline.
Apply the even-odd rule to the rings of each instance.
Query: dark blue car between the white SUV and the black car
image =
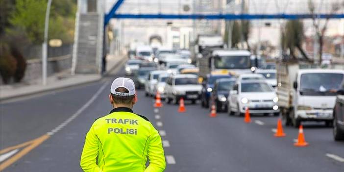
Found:
[[[231,78],[232,75],[225,75],[225,74],[207,74],[207,77],[202,82],[202,92],[201,92],[201,106],[202,107],[209,107],[209,100],[211,92],[214,88],[214,83],[217,79],[221,78]]]

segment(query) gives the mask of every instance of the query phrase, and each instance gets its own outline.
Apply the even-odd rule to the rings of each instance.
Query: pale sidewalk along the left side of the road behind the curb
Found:
[[[123,64],[126,60],[124,56],[107,56],[106,73]],[[47,85],[42,85],[42,80],[34,80],[30,83],[18,83],[0,86],[0,100],[18,98],[21,96],[33,95],[37,93],[52,91],[56,89],[72,87],[80,84],[95,82],[101,79],[100,74],[75,74],[71,75],[70,71],[55,74],[47,78]]]

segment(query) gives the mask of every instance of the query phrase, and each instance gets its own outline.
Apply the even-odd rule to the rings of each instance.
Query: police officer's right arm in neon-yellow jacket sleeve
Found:
[[[164,149],[158,131],[152,127],[152,135],[148,143],[149,165],[145,172],[163,172],[166,167]]]

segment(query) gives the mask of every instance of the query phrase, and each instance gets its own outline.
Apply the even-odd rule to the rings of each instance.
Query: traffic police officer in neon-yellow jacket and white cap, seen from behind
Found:
[[[85,172],[163,172],[164,149],[158,131],[135,114],[134,82],[116,78],[110,89],[110,114],[98,118],[85,139],[80,166]],[[149,165],[146,161],[149,158]]]

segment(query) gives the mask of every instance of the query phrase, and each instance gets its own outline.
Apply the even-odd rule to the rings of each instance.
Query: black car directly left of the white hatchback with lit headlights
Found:
[[[216,80],[211,94],[211,101],[215,103],[216,111],[227,111],[227,97],[229,91],[233,89],[235,78],[222,78]]]

